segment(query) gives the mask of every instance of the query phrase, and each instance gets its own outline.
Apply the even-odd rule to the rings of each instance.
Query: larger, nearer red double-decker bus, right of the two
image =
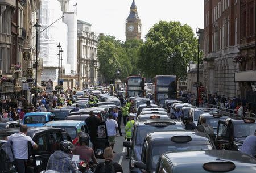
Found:
[[[161,105],[166,99],[177,98],[177,82],[175,75],[156,75],[152,81],[155,103]]]

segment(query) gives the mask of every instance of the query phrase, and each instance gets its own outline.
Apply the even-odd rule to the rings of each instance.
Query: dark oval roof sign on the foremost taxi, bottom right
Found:
[[[229,161],[213,161],[204,163],[203,168],[204,170],[210,172],[229,172],[234,170],[234,168],[236,168],[236,165],[233,162]]]

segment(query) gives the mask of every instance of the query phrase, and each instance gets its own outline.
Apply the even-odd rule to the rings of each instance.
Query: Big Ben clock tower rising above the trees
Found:
[[[126,40],[129,39],[141,39],[141,19],[139,19],[137,6],[135,4],[135,0],[130,7],[130,14],[126,19]]]

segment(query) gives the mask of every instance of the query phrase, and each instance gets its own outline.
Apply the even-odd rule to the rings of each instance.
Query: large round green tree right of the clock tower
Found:
[[[146,35],[140,48],[139,67],[147,77],[176,75],[185,79],[187,65],[197,60],[197,39],[191,27],[160,21]]]

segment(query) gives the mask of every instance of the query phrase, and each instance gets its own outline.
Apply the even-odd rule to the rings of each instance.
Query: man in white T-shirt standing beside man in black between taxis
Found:
[[[115,136],[117,135],[117,128],[118,128],[117,121],[115,121],[113,119],[113,115],[110,114],[109,119],[106,121],[106,129],[108,132],[109,145],[110,147],[112,147],[112,149],[114,148],[114,144],[115,144]]]

